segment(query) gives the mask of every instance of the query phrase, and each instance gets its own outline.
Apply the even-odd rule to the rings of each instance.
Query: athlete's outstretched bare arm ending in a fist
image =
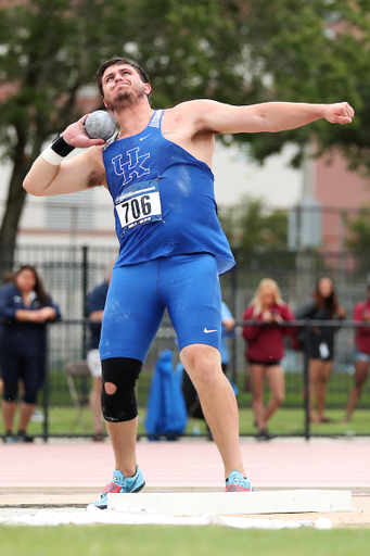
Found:
[[[355,111],[347,102],[308,104],[266,102],[248,106],[232,106],[215,101],[195,101],[196,126],[217,134],[254,134],[295,129],[317,119],[331,124],[350,124]],[[191,104],[191,102],[189,103]]]

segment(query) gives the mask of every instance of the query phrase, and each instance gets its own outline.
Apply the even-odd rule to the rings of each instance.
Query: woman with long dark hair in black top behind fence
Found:
[[[345,318],[331,278],[318,280],[311,299],[296,308],[297,320],[334,320]],[[327,386],[333,368],[334,337],[337,328],[311,327],[303,343],[309,348],[309,413],[312,422],[329,422],[326,416]],[[302,336],[302,334],[301,334]],[[317,410],[314,409],[316,405]]]

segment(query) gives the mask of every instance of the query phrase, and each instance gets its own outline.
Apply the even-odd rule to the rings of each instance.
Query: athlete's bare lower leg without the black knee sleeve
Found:
[[[222,372],[216,348],[205,344],[187,345],[180,359],[201,400],[203,414],[221,454],[225,477],[233,469],[244,477],[239,445],[239,414],[231,384]]]

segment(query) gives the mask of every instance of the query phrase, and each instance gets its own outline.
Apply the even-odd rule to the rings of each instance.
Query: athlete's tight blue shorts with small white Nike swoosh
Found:
[[[179,351],[194,343],[220,349],[221,291],[213,255],[174,255],[114,268],[102,323],[101,359],[132,357],[143,363],[165,308]]]

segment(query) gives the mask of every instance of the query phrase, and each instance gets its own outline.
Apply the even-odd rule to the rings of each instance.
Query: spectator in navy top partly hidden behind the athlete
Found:
[[[112,270],[113,268],[111,266],[107,278],[103,281],[103,283],[97,286],[88,296],[88,312],[91,325],[87,363],[92,377],[92,387],[89,396],[89,404],[92,415],[93,440],[95,442],[103,441],[105,434],[102,424],[102,365],[99,355],[99,342]]]

